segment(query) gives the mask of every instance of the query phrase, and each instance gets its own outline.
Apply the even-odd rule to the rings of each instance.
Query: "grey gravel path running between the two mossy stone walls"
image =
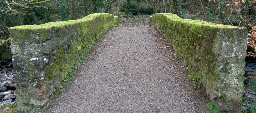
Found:
[[[175,64],[166,60],[154,38],[148,26],[111,28],[80,68],[77,83],[44,112],[208,112],[205,102],[194,101],[183,90],[179,73],[170,68]]]

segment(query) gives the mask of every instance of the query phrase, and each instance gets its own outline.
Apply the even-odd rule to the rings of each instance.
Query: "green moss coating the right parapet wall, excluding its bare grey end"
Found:
[[[214,86],[216,80],[216,64],[214,39],[217,32],[223,28],[234,28],[233,26],[219,25],[199,20],[186,20],[170,14],[155,14],[150,18],[150,26],[155,25],[161,30],[167,42],[171,43],[175,52],[181,58],[185,58],[191,75],[212,75],[207,78],[210,86]],[[168,23],[168,24],[166,24]],[[166,33],[165,31],[168,30]],[[200,74],[199,74],[200,73]],[[192,77],[192,76],[191,76]],[[208,76],[205,76],[208,77]]]

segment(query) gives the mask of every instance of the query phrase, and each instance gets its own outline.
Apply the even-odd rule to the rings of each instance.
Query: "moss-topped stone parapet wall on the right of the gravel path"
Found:
[[[157,13],[149,19],[184,59],[194,79],[200,79],[207,96],[222,112],[241,109],[247,31],[243,27],[182,19]]]

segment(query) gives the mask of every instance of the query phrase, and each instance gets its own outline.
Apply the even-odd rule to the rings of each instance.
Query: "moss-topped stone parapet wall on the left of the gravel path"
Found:
[[[17,70],[17,110],[26,112],[46,103],[74,63],[112,26],[118,26],[118,17],[96,13],[78,20],[9,28]]]

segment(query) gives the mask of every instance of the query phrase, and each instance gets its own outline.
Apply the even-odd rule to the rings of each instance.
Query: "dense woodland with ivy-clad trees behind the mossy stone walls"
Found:
[[[120,22],[134,19],[132,15],[152,15],[170,12],[185,19],[243,26],[248,32],[248,56],[255,57],[256,0],[1,0],[0,55],[5,60],[10,54],[8,28],[19,25],[42,24],[81,19],[92,13],[110,13]],[[135,19],[136,20],[136,19]],[[251,41],[251,42],[250,42]]]

